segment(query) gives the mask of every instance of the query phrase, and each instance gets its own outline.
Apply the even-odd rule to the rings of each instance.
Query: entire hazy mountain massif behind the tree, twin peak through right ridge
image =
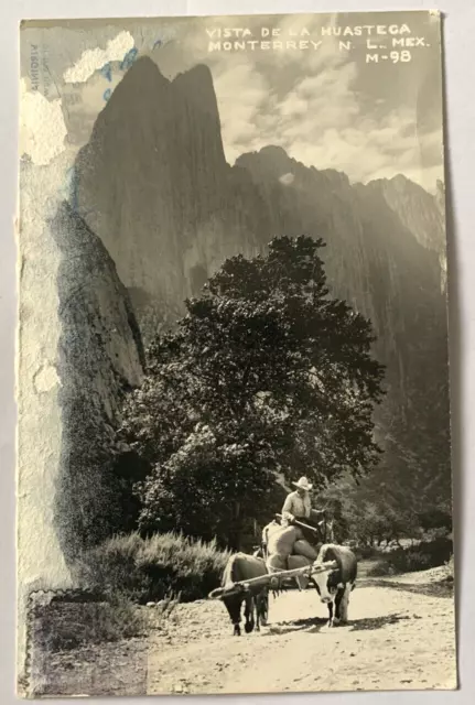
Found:
[[[78,155],[74,205],[116,262],[145,338],[173,324],[226,258],[261,252],[278,235],[322,237],[332,293],[371,319],[387,365],[385,442],[395,419],[402,435],[415,415],[433,427],[421,417],[434,404],[435,425],[447,425],[441,194],[402,176],[352,185],[272,145],[230,167],[209,70],[169,82],[141,58]],[[440,452],[449,463],[449,442]]]

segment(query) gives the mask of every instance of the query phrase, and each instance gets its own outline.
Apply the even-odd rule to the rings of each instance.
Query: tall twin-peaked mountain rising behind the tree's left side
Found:
[[[162,318],[175,319],[210,270],[255,251],[259,207],[225,161],[205,66],[173,82],[147,57],[131,67],[78,155],[75,202],[142,323],[156,304]]]

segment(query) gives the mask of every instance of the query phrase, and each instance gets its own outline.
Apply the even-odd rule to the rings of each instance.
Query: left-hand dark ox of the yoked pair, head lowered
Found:
[[[253,577],[260,577],[261,575],[268,575],[266,562],[262,558],[248,555],[247,553],[236,553],[235,555],[231,555],[227,562],[223,574],[222,587],[229,588],[235,583],[246,582]],[[260,622],[262,622],[262,625],[266,623],[269,609],[267,585],[249,585],[248,589],[234,595],[224,596],[222,599],[226,605],[226,609],[228,610],[234,625],[235,637],[240,637],[241,633],[240,621],[242,603],[245,604],[246,633],[250,633],[255,626],[259,631]]]

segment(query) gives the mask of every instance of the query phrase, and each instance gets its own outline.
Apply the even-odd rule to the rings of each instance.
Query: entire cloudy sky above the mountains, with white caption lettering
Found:
[[[402,173],[433,192],[443,181],[440,29],[429,12],[33,22],[22,32],[23,89],[31,94],[37,80],[36,52],[46,86],[40,93],[57,101],[72,149],[87,141],[132,50],[170,79],[198,63],[209,66],[230,164],[277,144],[352,182]],[[408,54],[395,40],[408,43],[410,61],[401,61]],[[255,44],[242,50],[244,41]],[[379,61],[367,61],[375,53]]]

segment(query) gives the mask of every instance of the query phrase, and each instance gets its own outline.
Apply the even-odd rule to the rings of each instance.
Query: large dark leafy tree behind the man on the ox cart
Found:
[[[324,487],[378,462],[384,370],[370,323],[328,296],[322,247],[282,237],[266,256],[227,260],[150,346],[120,430],[149,467],[137,486],[143,530],[238,547],[278,474]]]

